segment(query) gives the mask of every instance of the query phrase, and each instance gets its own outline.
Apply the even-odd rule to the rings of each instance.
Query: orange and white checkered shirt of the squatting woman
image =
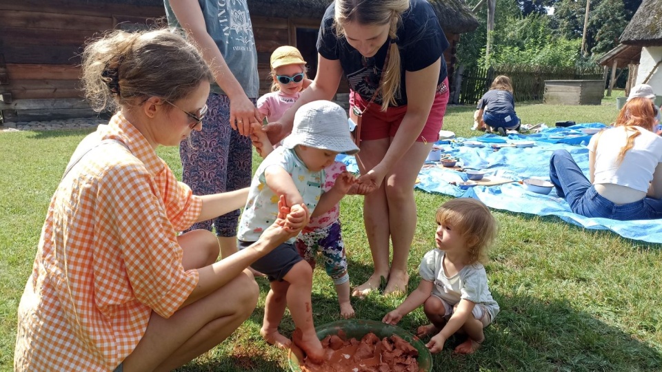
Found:
[[[106,138],[128,149],[88,152],[51,200],[19,305],[15,371],[112,371],[152,311],[172,316],[197,285],[177,231],[194,223],[201,199],[122,114],[87,140]]]

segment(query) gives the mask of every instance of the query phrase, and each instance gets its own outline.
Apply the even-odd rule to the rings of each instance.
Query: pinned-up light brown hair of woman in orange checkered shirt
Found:
[[[177,101],[214,81],[194,45],[167,29],[110,31],[88,43],[81,70],[86,98],[98,112],[150,96]]]

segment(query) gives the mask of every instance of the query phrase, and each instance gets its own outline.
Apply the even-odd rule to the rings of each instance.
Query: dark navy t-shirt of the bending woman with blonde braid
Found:
[[[345,37],[339,38],[333,28],[335,2],[331,3],[324,13],[319,28],[317,51],[325,59],[340,60],[345,77],[350,87],[365,100],[372,99],[374,91],[379,87],[381,71],[384,67],[388,40],[381,46],[377,54],[370,58],[363,58],[358,50],[354,49]],[[430,3],[425,0],[411,0],[410,7],[402,14],[402,22],[396,32],[397,44],[400,49],[401,60],[401,88],[400,96],[396,99],[397,105],[407,104],[405,90],[405,71],[419,71],[432,65],[441,57],[439,81],[446,78],[446,63],[443,51],[448,48],[437,14]],[[374,100],[381,105],[381,94]]]

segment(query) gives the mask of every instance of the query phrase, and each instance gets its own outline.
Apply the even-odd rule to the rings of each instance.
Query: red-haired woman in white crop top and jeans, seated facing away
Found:
[[[656,110],[648,99],[632,99],[614,128],[591,138],[590,181],[569,152],[552,154],[550,178],[574,213],[614,220],[662,218],[662,138],[653,132]]]

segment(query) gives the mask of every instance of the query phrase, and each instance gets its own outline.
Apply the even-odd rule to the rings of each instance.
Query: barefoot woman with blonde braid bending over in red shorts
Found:
[[[417,220],[414,183],[432,143],[439,140],[448,103],[443,59],[448,41],[428,1],[354,3],[330,4],[317,40],[317,76],[267,132],[276,143],[292,130],[301,105],[332,99],[341,77],[348,80],[350,105],[363,112],[359,194],[365,195],[363,218],[374,261],[374,273],[352,294],[365,296],[382,277],[388,278],[385,294],[405,291],[408,284],[407,258]]]

